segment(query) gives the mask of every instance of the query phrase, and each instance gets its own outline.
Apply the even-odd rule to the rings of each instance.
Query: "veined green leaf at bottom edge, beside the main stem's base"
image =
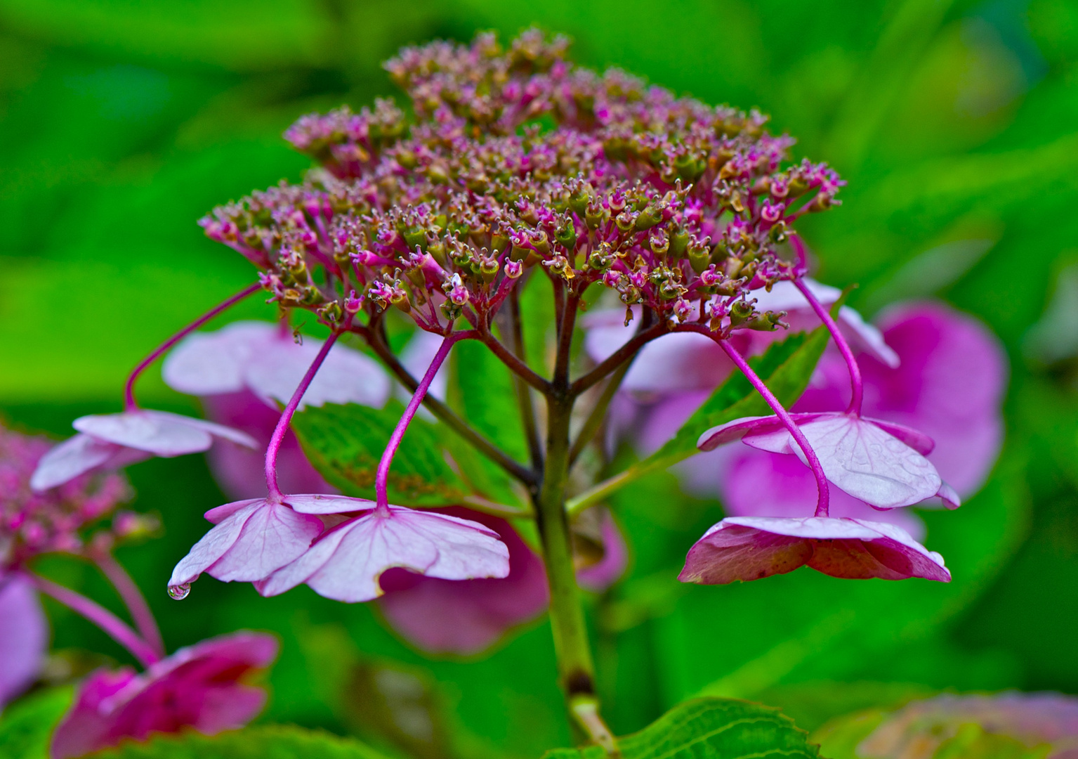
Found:
[[[618,740],[624,759],[816,759],[808,733],[778,709],[732,699],[694,699]],[[602,748],[558,748],[544,759],[602,759]]]

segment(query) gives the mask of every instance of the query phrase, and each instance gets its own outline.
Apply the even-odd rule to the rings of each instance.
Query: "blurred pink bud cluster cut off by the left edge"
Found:
[[[52,552],[77,553],[85,529],[132,496],[127,480],[115,473],[83,474],[43,493],[30,488],[38,460],[53,443],[0,427],[0,568]],[[113,514],[111,539],[152,532],[153,524],[134,512]]]

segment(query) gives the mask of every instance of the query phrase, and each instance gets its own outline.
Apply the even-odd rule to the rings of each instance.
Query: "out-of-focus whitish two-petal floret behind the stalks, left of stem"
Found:
[[[217,332],[192,334],[165,359],[165,383],[180,392],[211,396],[249,389],[276,408],[295,391],[322,341],[298,344],[290,331],[264,321],[238,321]],[[362,403],[382,408],[389,378],[372,359],[337,343],[303,395],[300,408]]]

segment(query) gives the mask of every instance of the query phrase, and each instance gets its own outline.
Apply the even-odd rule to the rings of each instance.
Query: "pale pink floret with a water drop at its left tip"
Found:
[[[190,584],[204,571],[222,582],[262,580],[300,556],[322,532],[317,516],[263,498],[226,503],[206,516],[216,526],[176,565],[169,588]]]

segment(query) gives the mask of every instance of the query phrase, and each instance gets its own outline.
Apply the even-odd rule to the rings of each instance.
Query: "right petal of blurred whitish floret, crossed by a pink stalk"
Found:
[[[261,398],[288,402],[322,342],[276,340],[251,357],[245,369],[247,386]],[[375,408],[389,398],[389,378],[374,360],[345,345],[334,345],[303,396],[300,408],[323,403],[362,403]]]

